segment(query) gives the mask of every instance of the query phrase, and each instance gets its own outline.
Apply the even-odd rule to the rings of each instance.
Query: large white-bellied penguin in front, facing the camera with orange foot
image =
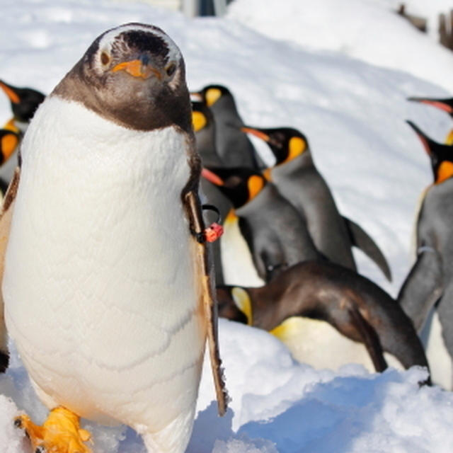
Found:
[[[88,452],[84,417],[183,453],[206,338],[220,413],[226,395],[176,44],[139,23],[103,33],[38,108],[21,154],[0,222],[4,313],[51,413],[16,425],[33,451]]]

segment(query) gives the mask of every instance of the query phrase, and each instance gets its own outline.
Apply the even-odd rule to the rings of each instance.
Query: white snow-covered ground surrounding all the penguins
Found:
[[[384,0],[277,4],[236,0],[227,18],[189,20],[138,3],[3,0],[0,77],[49,93],[107,28],[159,25],[180,46],[191,89],[225,84],[249,124],[306,134],[340,211],[379,243],[394,281],[386,283],[357,253],[360,272],[395,296],[411,267],[418,196],[432,182],[428,158],[404,120],[439,141],[451,126],[445,113],[406,98],[450,96],[453,54],[417,35]],[[332,8],[335,27],[328,25]],[[10,116],[0,96],[0,120]],[[229,321],[220,322],[220,343],[230,409],[217,417],[205,363],[190,453],[453,451],[452,393],[419,388],[421,369],[317,371],[294,362],[268,333]],[[14,350],[0,394],[0,452],[28,453],[11,420],[25,410],[41,422],[46,411]],[[144,452],[132,430],[84,427],[93,431],[96,453]]]

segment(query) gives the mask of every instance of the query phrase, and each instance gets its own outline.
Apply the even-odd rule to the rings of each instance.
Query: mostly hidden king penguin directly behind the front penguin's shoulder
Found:
[[[192,102],[192,124],[195,132],[195,144],[198,154],[200,154],[203,166],[222,166],[222,161],[215,151],[215,125],[212,112],[204,103]],[[233,205],[225,195],[217,188],[217,185],[210,183],[206,178],[200,179],[202,197],[206,197],[206,202],[214,205],[219,210],[222,222],[231,211]],[[214,258],[214,273],[216,285],[224,283],[224,273],[222,270],[222,250],[220,241],[210,244],[212,256]]]

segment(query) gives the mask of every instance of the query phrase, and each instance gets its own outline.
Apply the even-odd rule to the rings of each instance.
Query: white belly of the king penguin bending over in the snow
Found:
[[[365,345],[341,335],[326,321],[302,317],[289,318],[278,329],[278,338],[299,362],[316,369],[338,369],[348,363],[359,363],[375,372]],[[393,355],[384,352],[390,367],[403,369]]]

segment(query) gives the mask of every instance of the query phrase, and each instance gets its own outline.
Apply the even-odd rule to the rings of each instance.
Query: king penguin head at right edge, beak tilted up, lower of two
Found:
[[[435,184],[440,184],[453,176],[453,147],[435,142],[420,130],[413,122],[407,121],[423,144],[431,159]]]

